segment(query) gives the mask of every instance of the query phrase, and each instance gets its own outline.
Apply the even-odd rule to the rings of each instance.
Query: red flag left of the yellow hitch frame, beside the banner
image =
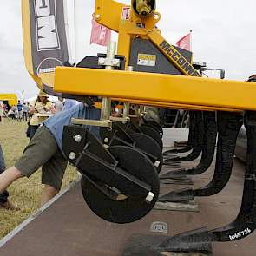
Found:
[[[110,40],[111,30],[97,23],[95,21],[95,18],[93,17],[90,43],[96,43],[102,46],[107,46]]]

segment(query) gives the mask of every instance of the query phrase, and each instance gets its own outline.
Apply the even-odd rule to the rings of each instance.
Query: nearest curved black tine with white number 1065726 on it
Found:
[[[235,127],[236,125],[233,124]],[[245,238],[256,228],[256,112],[246,111],[247,161],[244,192],[240,212],[227,226],[212,231],[206,228],[181,233],[165,240],[155,249],[158,251],[191,251],[208,247],[211,242],[234,241]]]

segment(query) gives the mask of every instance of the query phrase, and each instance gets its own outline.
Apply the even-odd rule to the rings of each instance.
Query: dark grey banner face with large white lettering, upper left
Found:
[[[31,0],[30,10],[23,15],[30,18],[30,33],[24,34],[24,44],[30,42],[30,59],[33,74],[42,79],[43,85],[53,87],[51,73],[56,66],[69,62],[69,48],[65,26],[63,0]]]

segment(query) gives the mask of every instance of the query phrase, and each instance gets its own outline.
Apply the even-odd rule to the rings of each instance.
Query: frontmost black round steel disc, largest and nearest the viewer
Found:
[[[90,209],[104,220],[115,223],[129,223],[141,219],[154,207],[159,194],[159,178],[152,161],[145,154],[142,154],[135,148],[127,146],[113,146],[108,148],[118,161],[118,167],[136,178],[144,181],[151,186],[151,192],[154,198],[151,202],[141,197],[127,197],[124,194],[119,195],[116,199],[111,198],[107,194],[95,187],[91,181],[85,176],[82,176],[82,194]],[[106,184],[94,181],[100,186],[107,188],[110,191],[115,191],[115,188],[110,188]],[[106,189],[104,189],[106,190]]]

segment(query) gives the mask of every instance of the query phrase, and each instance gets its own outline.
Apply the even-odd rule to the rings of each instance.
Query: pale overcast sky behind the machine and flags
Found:
[[[76,56],[81,60],[104,52],[105,48],[89,45],[95,1],[75,2],[79,24]],[[194,61],[225,69],[227,79],[243,81],[256,73],[255,0],[158,0],[157,10],[161,13],[158,27],[170,43],[193,30]],[[27,99],[38,89],[23,62],[21,1],[1,0],[0,20],[0,93],[16,93],[19,98],[23,94]]]

